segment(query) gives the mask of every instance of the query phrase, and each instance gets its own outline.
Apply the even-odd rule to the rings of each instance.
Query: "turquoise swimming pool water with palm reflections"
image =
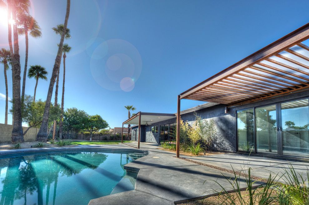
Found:
[[[141,156],[85,151],[0,159],[0,203],[88,204],[115,193],[121,179],[134,188],[135,179],[126,175],[123,166]],[[125,191],[119,184],[115,189]]]

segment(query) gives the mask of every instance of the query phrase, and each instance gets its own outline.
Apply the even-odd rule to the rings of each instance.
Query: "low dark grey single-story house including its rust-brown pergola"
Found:
[[[140,131],[160,143],[179,139],[180,118],[192,124],[196,112],[215,122],[218,150],[309,159],[308,39],[309,23],[178,95],[176,114],[139,112],[123,124],[136,125],[132,140]],[[207,103],[180,112],[181,99]]]

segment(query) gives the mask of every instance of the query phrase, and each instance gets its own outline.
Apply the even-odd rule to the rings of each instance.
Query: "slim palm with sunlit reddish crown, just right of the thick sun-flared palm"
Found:
[[[41,28],[37,21],[30,15],[26,13],[21,13],[18,15],[18,34],[25,35],[26,40],[26,55],[25,55],[25,68],[22,78],[22,104],[25,98],[25,86],[26,86],[26,75],[27,75],[27,63],[28,63],[28,32],[30,31],[30,36],[33,38],[39,38],[42,36]]]

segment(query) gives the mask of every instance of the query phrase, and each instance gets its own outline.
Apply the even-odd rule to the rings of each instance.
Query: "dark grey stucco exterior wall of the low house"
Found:
[[[240,105],[237,107],[230,107],[227,114],[224,113],[225,105],[216,105],[213,107],[208,107],[202,110],[196,111],[196,113],[202,117],[202,119],[212,119],[218,129],[217,136],[217,149],[223,151],[236,151],[237,150],[237,130],[236,130],[236,112],[242,109],[248,109],[252,107],[259,107],[264,105],[269,105],[273,103],[279,103],[282,101],[290,101],[298,98],[304,98],[309,96],[309,90],[291,93],[289,95],[280,96],[277,98],[271,98],[255,103],[249,103],[246,105]],[[182,120],[188,120],[189,124],[195,122],[195,116],[193,112],[181,115]],[[171,124],[176,122],[176,118],[172,118],[170,120],[161,121],[157,123],[153,123],[152,125],[145,127],[145,141],[146,142],[154,142],[159,143],[159,133],[153,134],[151,133],[151,126],[159,126],[164,124]]]

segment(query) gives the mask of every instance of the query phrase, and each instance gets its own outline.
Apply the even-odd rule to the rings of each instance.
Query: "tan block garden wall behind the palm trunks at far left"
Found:
[[[28,127],[22,127],[23,131],[26,131]],[[12,141],[12,125],[6,125],[0,123],[0,143],[9,143]],[[39,128],[30,128],[24,136],[25,142],[33,142],[37,136]]]

